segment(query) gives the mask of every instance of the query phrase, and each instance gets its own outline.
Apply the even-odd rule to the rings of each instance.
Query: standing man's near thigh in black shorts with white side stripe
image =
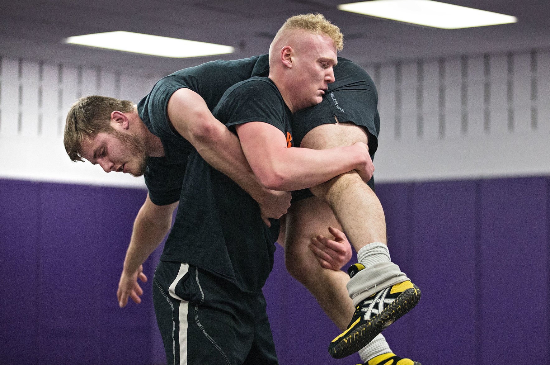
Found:
[[[153,297],[168,364],[243,363],[254,339],[243,297],[192,265],[159,266]]]

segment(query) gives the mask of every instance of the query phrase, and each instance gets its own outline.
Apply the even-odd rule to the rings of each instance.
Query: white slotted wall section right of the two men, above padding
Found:
[[[550,172],[550,52],[367,65],[378,182]]]

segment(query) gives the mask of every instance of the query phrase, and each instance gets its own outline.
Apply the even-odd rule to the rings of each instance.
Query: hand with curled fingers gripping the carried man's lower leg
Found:
[[[328,227],[328,231],[334,239],[318,235],[311,238],[309,248],[322,268],[340,270],[351,259],[351,244],[338,228]]]

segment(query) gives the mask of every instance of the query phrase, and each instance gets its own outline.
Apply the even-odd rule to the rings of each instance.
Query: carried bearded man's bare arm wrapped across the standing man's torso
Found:
[[[179,89],[168,101],[173,127],[188,140],[208,164],[239,184],[260,204],[264,221],[279,218],[290,206],[290,194],[274,192],[254,175],[237,136],[208,110],[202,97],[189,89]]]

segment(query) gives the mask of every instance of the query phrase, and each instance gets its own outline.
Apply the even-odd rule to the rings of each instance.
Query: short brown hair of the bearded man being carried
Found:
[[[134,110],[134,103],[114,97],[91,95],[81,97],[67,114],[63,144],[72,161],[84,161],[81,156],[82,142],[94,138],[98,133],[112,132],[111,113]]]

